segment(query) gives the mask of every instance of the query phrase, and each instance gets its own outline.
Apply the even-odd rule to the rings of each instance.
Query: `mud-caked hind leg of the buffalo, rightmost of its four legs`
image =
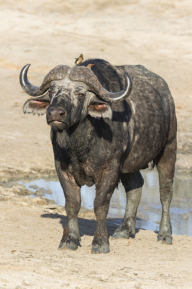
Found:
[[[159,174],[159,191],[162,205],[161,222],[157,242],[172,244],[172,226],[169,207],[173,195],[173,177],[176,161],[176,139],[165,145],[165,148],[155,157],[154,162]]]

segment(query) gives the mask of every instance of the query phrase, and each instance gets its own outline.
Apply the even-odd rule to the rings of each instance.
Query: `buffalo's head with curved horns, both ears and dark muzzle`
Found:
[[[132,80],[127,73],[124,74],[125,88],[120,92],[109,92],[87,67],[66,65],[53,68],[37,87],[28,81],[29,66],[22,68],[20,84],[28,95],[35,98],[24,103],[23,112],[46,113],[47,123],[56,130],[67,129],[83,121],[88,114],[111,119],[111,103],[126,99],[132,90]]]

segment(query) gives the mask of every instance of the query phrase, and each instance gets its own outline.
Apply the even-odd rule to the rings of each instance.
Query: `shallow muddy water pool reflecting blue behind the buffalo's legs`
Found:
[[[159,195],[159,181],[157,170],[141,171],[144,178],[142,197],[137,211],[136,227],[153,231],[159,230],[161,220],[161,203]],[[58,179],[30,179],[21,180],[31,196],[44,196],[54,199],[57,205],[64,206],[65,198]],[[87,210],[93,209],[95,186],[81,188],[81,206]],[[113,218],[120,224],[126,208],[126,194],[122,184],[115,189],[111,198],[108,218]],[[170,205],[170,218],[173,234],[192,236],[192,174],[175,173],[174,194]]]

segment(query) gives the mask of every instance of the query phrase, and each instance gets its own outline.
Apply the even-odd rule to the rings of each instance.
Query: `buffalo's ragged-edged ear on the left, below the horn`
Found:
[[[43,115],[46,113],[48,106],[50,105],[50,97],[47,93],[38,98],[30,98],[23,105],[24,113],[33,113]]]

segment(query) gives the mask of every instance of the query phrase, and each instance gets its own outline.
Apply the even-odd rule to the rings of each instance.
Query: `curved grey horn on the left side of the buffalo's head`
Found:
[[[67,65],[56,66],[55,68],[50,70],[50,72],[43,79],[43,83],[41,84],[41,86],[38,87],[38,86],[31,84],[28,81],[27,71],[30,65],[31,64],[27,64],[22,68],[20,72],[19,81],[24,92],[26,92],[28,95],[31,95],[31,96],[39,96],[45,93],[48,90],[50,82],[52,80],[63,79],[66,76],[69,68],[71,68],[70,66],[67,66]]]

